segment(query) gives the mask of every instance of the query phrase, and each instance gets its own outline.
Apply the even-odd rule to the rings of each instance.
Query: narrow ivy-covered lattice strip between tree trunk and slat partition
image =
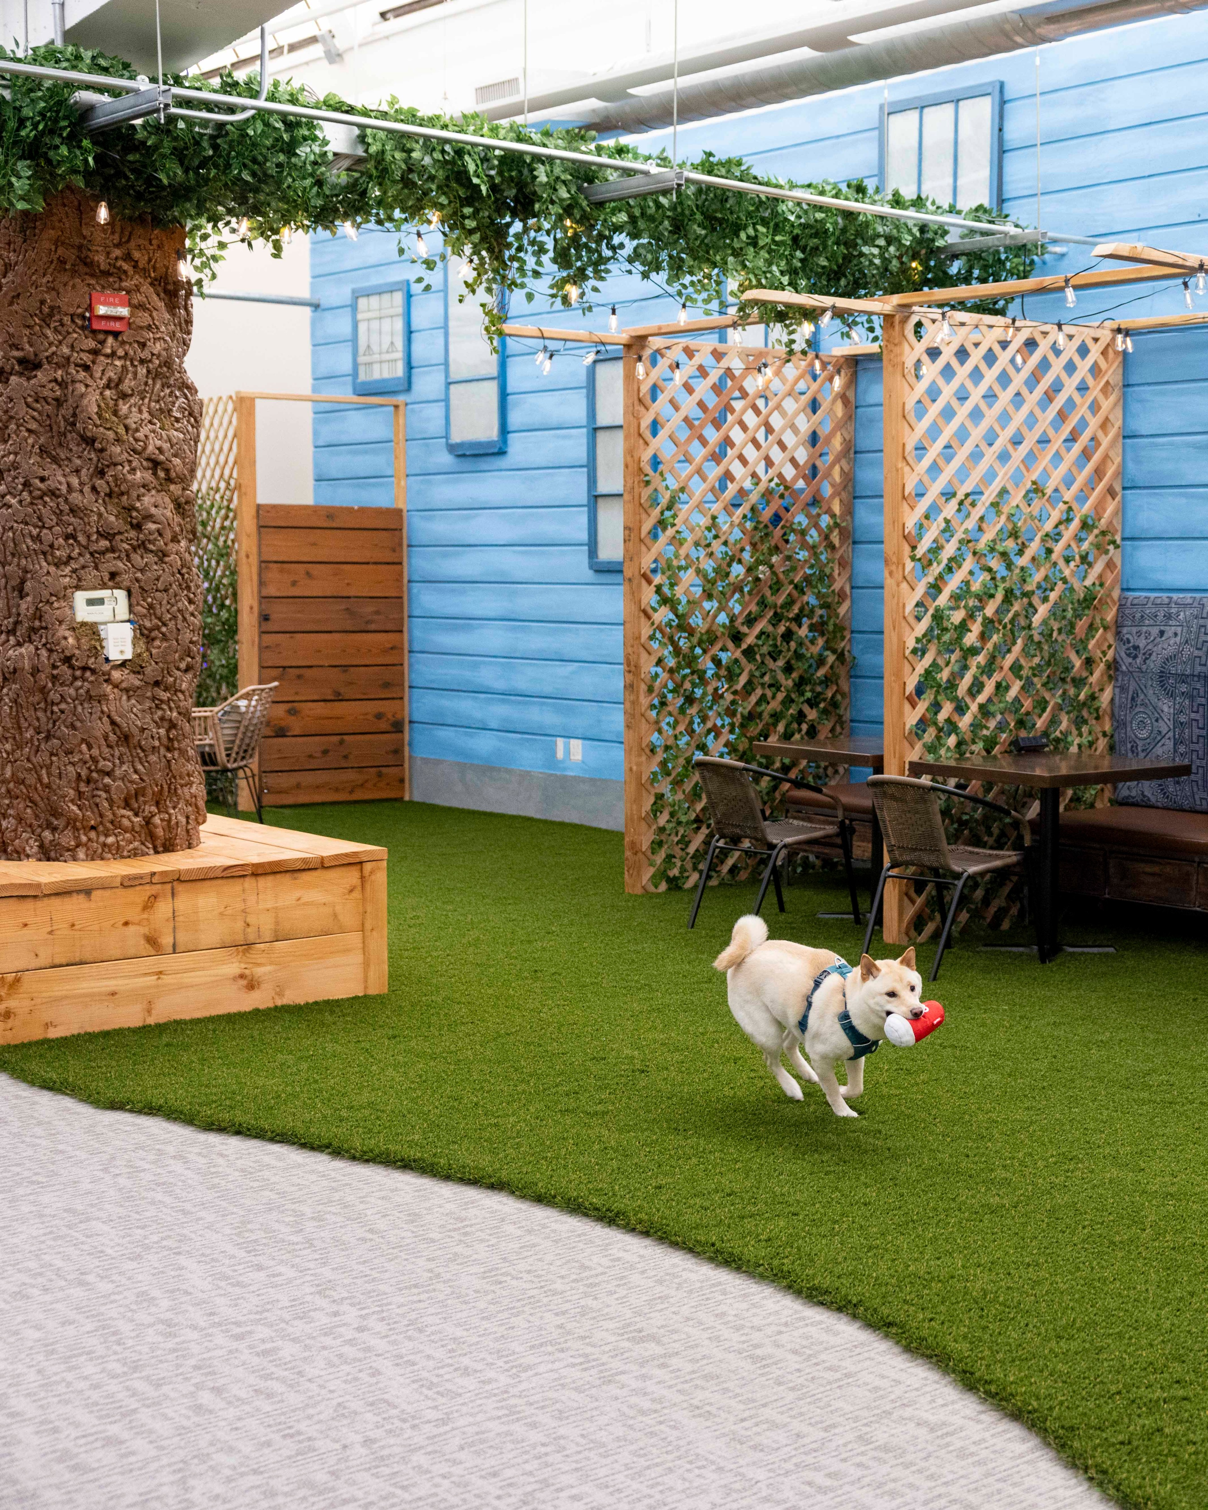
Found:
[[[193,547],[202,586],[199,707],[213,707],[239,690],[236,482],[234,399],[204,399]]]

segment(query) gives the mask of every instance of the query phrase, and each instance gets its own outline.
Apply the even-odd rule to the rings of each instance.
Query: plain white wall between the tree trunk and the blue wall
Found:
[[[296,236],[275,258],[266,246],[226,254],[213,288],[310,297],[310,242]],[[310,393],[311,311],[290,304],[193,299],[193,344],[184,364],[202,399],[234,393]],[[257,405],[261,503],[313,503],[310,403]]]

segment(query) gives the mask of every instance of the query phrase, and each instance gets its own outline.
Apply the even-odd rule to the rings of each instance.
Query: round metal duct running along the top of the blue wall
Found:
[[[983,14],[966,21],[948,21],[904,36],[689,85],[678,92],[678,121],[683,125],[686,121],[782,104],[787,100],[850,89],[853,85],[879,83],[903,74],[1015,53],[1108,26],[1125,26],[1160,15],[1184,15],[1205,6],[1208,0],[1057,0],[1027,9],[1004,9],[995,15]],[[615,103],[586,104],[563,113],[574,115],[575,121],[596,131],[654,131],[672,124],[673,109],[673,91],[663,89],[651,95],[628,95]]]

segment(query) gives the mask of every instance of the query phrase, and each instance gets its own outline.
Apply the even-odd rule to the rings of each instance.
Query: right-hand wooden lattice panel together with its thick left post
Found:
[[[941,338],[938,316],[886,319],[883,331],[885,770],[898,775],[911,760],[963,752],[974,728],[985,740],[983,704],[1004,690],[1018,698],[1021,719],[1051,737],[1105,749],[1111,734],[1123,376],[1113,332],[963,317],[953,334]],[[1057,527],[1052,550],[1054,519],[1065,506],[1069,522]],[[1063,557],[1087,521],[1116,544],[1099,550],[1089,571],[1075,571]],[[1089,678],[1089,726],[1083,720],[1075,729],[1063,689],[1048,686],[1045,667],[1030,664],[1030,637],[1006,643],[994,631],[994,601],[978,606],[977,633],[969,627],[974,649],[968,666],[962,661],[959,686],[942,698],[927,686],[942,654],[927,643],[929,630],[941,613],[960,622],[962,584],[978,559],[1009,542],[1009,522],[1016,532],[1012,559],[1021,568],[1027,571],[1042,545],[1046,551],[1043,574],[1036,574],[1042,589],[1033,598],[1033,627],[1060,602],[1065,589],[1054,596],[1054,572],[1065,574],[1069,590],[1101,589],[1095,618],[1102,627],[1086,657],[1063,667],[1066,689]],[[1006,749],[1016,732],[1003,728],[995,747]],[[886,938],[904,941],[917,914],[911,903],[897,920],[886,917]]]

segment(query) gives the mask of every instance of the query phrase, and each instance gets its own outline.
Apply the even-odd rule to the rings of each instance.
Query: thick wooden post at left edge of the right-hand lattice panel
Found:
[[[885,775],[906,775],[906,320],[886,316],[880,349],[885,393]],[[883,936],[903,942],[904,883],[885,886]]]

